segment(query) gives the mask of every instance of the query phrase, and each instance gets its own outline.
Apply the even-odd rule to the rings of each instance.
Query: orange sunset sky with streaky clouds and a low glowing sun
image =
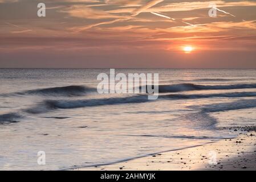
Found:
[[[0,0],[0,68],[256,68],[255,40],[256,1]]]

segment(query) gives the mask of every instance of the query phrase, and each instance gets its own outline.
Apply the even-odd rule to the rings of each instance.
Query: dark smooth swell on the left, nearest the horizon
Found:
[[[87,92],[94,92],[96,89],[81,85],[60,86],[53,88],[26,90],[23,92],[1,94],[1,96],[13,95],[43,95],[43,96],[82,96]]]

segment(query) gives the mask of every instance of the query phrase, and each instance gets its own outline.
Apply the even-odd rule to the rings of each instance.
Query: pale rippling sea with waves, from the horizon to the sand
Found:
[[[256,124],[255,69],[116,69],[159,73],[153,101],[97,93],[99,73],[109,69],[0,69],[0,169],[110,164],[233,138],[230,126]]]

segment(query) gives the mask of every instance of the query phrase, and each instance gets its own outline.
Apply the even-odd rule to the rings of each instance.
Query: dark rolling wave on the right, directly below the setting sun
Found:
[[[182,92],[192,90],[228,90],[228,89],[250,89],[256,88],[256,84],[234,84],[234,85],[197,85],[197,84],[174,84],[159,85],[159,93]]]

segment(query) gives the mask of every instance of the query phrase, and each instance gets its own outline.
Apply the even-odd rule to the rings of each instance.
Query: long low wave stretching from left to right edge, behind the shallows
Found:
[[[168,94],[160,95],[159,99],[181,100],[181,99],[196,99],[209,97],[256,97],[256,92],[234,92],[234,93],[216,93],[216,94]],[[100,98],[91,100],[46,100],[38,105],[26,109],[27,113],[38,114],[46,113],[54,109],[75,109],[79,107],[92,107],[103,105],[118,105],[118,104],[136,104],[151,102],[147,95],[138,95],[130,97],[112,97]]]

